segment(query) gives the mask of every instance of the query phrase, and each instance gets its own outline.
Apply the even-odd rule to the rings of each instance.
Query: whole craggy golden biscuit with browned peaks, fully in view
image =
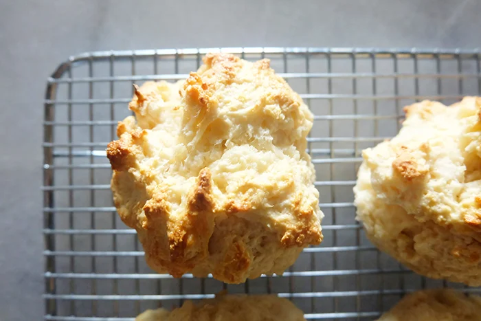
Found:
[[[322,241],[313,115],[269,60],[208,54],[183,82],[136,88],[129,107],[107,148],[113,199],[157,272],[242,283]]]

